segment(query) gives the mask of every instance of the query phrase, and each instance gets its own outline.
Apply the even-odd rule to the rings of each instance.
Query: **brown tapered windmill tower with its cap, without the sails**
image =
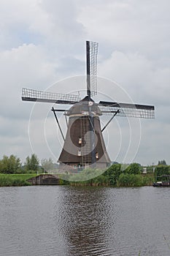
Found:
[[[91,108],[90,111],[89,108]],[[92,130],[90,130],[90,114],[93,116]],[[73,172],[77,172],[77,170],[92,165],[101,169],[109,165],[110,159],[101,132],[99,118],[101,115],[98,105],[92,99],[88,101],[88,96],[75,103],[66,112],[66,116],[69,116],[69,124],[63,149],[58,159],[61,169],[66,170],[68,167]]]

